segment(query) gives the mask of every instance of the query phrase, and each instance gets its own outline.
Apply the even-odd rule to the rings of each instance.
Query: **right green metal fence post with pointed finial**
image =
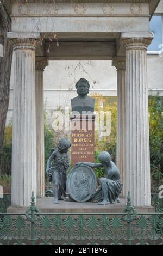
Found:
[[[122,216],[122,219],[124,221],[127,221],[127,244],[131,245],[131,222],[136,218],[137,211],[134,208],[134,206],[131,206],[131,196],[130,192],[128,192],[127,196],[127,205],[126,208],[123,210],[124,215]],[[125,217],[127,215],[127,217]]]

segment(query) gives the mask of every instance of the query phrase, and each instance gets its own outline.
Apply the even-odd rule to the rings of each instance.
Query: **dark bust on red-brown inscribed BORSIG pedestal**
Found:
[[[79,161],[94,161],[95,99],[87,96],[90,84],[84,78],[76,83],[78,96],[71,100],[72,166]]]

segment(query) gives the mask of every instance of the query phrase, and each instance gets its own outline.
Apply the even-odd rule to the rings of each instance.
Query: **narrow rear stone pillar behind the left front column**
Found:
[[[36,59],[36,161],[37,197],[45,196],[44,131],[43,131],[43,71],[48,65],[45,58]]]

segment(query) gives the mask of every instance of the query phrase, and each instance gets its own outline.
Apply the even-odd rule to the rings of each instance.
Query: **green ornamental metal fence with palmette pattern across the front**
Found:
[[[0,214],[2,245],[163,245],[163,212],[137,214],[128,194],[122,213]]]

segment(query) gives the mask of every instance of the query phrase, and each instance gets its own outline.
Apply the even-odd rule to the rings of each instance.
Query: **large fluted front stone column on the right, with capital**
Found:
[[[151,204],[147,46],[151,39],[128,38],[126,49],[126,196],[133,204]]]

